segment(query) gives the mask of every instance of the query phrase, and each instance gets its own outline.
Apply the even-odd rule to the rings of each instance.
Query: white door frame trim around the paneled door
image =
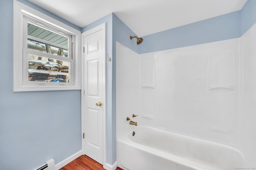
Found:
[[[100,24],[99,26],[96,26],[84,33],[81,34],[81,54],[84,53],[84,36],[88,36],[90,34],[93,34],[97,31],[103,30],[103,167],[106,168],[106,23]],[[85,154],[84,152],[84,138],[83,138],[83,133],[84,133],[84,101],[85,101],[85,96],[84,96],[84,55],[81,55],[81,127],[82,127],[82,153]]]

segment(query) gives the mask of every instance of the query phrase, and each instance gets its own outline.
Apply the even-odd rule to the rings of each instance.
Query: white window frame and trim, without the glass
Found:
[[[81,32],[59,22],[45,14],[42,14],[24,4],[14,0],[13,7],[13,75],[14,90],[13,91],[52,91],[52,90],[80,90],[81,89]],[[28,82],[28,59],[26,50],[27,46],[24,36],[27,34],[24,29],[26,17],[41,21],[48,26],[61,30],[72,36],[72,60],[70,63],[70,82]],[[26,44],[25,44],[26,43]],[[42,57],[47,57],[41,55]],[[65,60],[63,60],[65,61]]]

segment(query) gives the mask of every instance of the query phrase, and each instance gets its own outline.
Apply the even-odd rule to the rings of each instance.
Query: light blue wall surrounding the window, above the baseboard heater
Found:
[[[12,0],[0,1],[0,14],[0,170],[29,170],[50,158],[58,163],[81,150],[81,91],[13,92]]]

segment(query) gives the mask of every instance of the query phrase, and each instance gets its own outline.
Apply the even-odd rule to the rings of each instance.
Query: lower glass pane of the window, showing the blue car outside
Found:
[[[70,62],[28,55],[28,81],[69,82]]]

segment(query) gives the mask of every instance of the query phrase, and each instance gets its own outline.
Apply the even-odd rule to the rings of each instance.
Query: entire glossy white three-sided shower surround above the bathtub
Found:
[[[241,38],[145,54],[117,43],[117,138],[134,128],[130,117],[236,148],[245,162],[234,168],[256,168],[255,44],[256,25]]]

